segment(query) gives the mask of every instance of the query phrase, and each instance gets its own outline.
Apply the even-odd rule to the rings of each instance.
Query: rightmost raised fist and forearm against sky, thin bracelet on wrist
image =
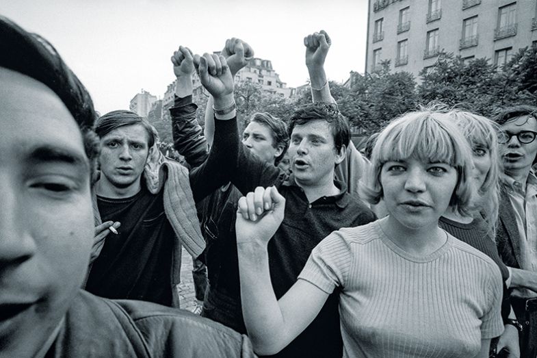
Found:
[[[313,103],[336,103],[330,94],[330,86],[324,71],[324,60],[332,41],[326,31],[321,30],[304,38],[306,47],[306,67],[308,68]]]

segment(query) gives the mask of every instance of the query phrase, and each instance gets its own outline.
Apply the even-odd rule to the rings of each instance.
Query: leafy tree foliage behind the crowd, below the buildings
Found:
[[[390,72],[390,66],[389,61],[384,61],[373,73],[351,73],[350,86],[329,82],[341,113],[352,127],[365,134],[379,131],[389,120],[429,103],[441,102],[484,116],[491,116],[498,107],[506,105],[537,105],[537,50],[534,47],[519,50],[502,68],[490,64],[486,58],[464,61],[460,56],[441,53],[434,66],[419,73],[419,84],[410,73]],[[309,88],[284,99],[247,81],[235,84],[235,101],[239,130],[242,130],[255,112],[269,112],[288,121],[297,107],[311,103],[312,99]],[[202,124],[207,94],[197,92],[194,102],[198,104],[197,116]],[[168,110],[163,110],[163,119],[155,121],[161,133],[170,133],[166,112]],[[161,136],[168,138],[166,134]]]

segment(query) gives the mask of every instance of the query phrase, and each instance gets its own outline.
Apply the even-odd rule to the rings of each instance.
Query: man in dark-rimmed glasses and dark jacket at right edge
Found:
[[[497,244],[511,268],[511,302],[522,323],[521,357],[537,354],[537,107],[519,105],[500,112],[495,122],[503,133],[504,174],[499,205]],[[529,290],[532,289],[532,290]]]

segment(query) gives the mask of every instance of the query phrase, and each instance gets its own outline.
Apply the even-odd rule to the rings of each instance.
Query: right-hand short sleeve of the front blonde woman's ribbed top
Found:
[[[501,318],[503,288],[498,266],[494,264],[492,269],[487,270],[487,274],[488,282],[486,292],[488,292],[488,302],[490,302],[490,305],[481,318],[482,340],[499,337],[503,333],[503,320]]]

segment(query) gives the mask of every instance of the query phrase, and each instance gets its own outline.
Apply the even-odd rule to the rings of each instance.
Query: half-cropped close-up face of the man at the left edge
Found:
[[[90,167],[54,92],[0,67],[0,355],[34,356],[86,274]]]

